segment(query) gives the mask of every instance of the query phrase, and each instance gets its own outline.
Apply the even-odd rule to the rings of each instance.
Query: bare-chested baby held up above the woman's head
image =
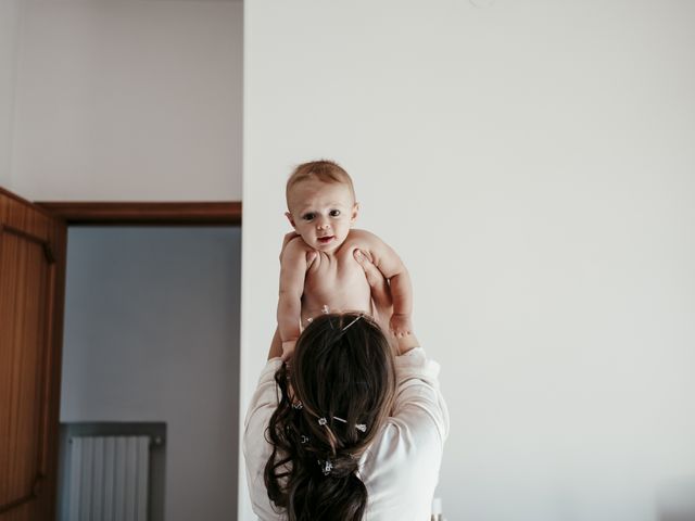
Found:
[[[408,272],[377,236],[352,229],[359,209],[352,179],[338,164],[316,161],[298,166],[287,182],[287,218],[299,233],[280,257],[278,329],[282,356],[294,348],[301,330],[321,313],[361,310],[374,315],[364,253],[389,280],[393,315],[389,329],[410,334],[413,295]],[[380,317],[384,318],[384,317]]]

